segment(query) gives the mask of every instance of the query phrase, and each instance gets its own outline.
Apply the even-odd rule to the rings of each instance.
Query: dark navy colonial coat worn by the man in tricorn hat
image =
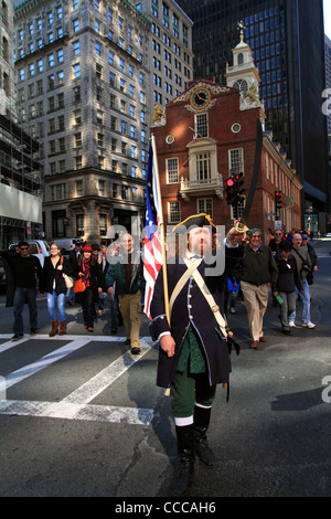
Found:
[[[222,275],[205,275],[205,269],[211,265],[202,262],[197,271],[204,278],[209,290],[213,295],[224,316],[224,288],[227,272],[242,256],[242,247],[226,248],[225,271]],[[182,262],[169,262],[168,264],[168,289],[169,298],[186,271]],[[231,372],[231,360],[228,347],[225,338],[222,336],[217,321],[194,279],[186,282],[183,289],[178,295],[171,314],[171,327],[168,325],[163,297],[163,275],[162,268],[158,274],[154,294],[151,303],[150,333],[153,340],[157,340],[160,333],[170,331],[175,341],[175,353],[173,357],[159,349],[159,364],[157,384],[161,388],[169,388],[175,374],[177,366],[182,352],[183,342],[190,326],[193,326],[203,349],[209,372],[210,385],[228,382]]]

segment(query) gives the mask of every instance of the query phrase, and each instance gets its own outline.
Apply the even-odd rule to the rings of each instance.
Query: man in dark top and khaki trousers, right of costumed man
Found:
[[[264,315],[268,305],[269,286],[278,276],[274,255],[271,250],[261,243],[259,229],[250,230],[250,240],[245,246],[242,266],[241,287],[253,339],[250,347],[256,349],[259,342],[266,342],[263,331]]]

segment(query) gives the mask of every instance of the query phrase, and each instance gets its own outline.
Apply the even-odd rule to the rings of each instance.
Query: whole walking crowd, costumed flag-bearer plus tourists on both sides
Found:
[[[242,294],[254,350],[266,342],[263,320],[269,287],[274,303],[279,305],[285,333],[297,326],[298,297],[302,300],[302,326],[313,329],[309,284],[318,269],[317,255],[306,233],[292,233],[288,240],[281,231],[276,231],[266,245],[259,229],[233,227],[223,246],[220,243],[217,246],[217,227],[204,213],[186,219],[179,229],[186,231],[188,243],[182,257],[177,256],[167,264],[170,307],[164,296],[162,267],[154,285],[149,325],[152,339],[160,345],[157,384],[170,390],[172,396],[180,458],[175,496],[186,494],[192,485],[195,456],[209,466],[215,462],[206,437],[212,405],[216,385],[228,384],[231,351],[238,347],[228,328],[228,305],[234,314],[237,295]],[[211,250],[213,254],[206,261],[206,251]],[[225,257],[225,268],[213,275],[220,255]],[[143,263],[141,248],[134,244],[129,233],[109,246],[108,253],[104,246],[77,241],[75,251],[63,257],[53,243],[43,268],[38,258],[29,255],[29,244],[24,241],[15,252],[7,254],[7,260],[15,279],[12,340],[23,337],[25,301],[30,307],[31,335],[36,332],[38,289],[47,296],[51,337],[66,333],[65,305],[73,305],[74,297],[81,300],[85,329],[94,331],[94,320],[104,311],[106,294],[110,298],[110,332],[117,332],[122,319],[126,343],[132,354],[140,353]],[[73,286],[66,300],[68,277]],[[83,292],[75,289],[78,282],[84,284]]]

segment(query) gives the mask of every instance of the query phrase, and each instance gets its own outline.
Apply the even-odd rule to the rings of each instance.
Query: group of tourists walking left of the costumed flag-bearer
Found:
[[[29,254],[29,243],[19,242],[14,250],[2,253],[9,276],[14,283],[14,322],[12,341],[23,337],[22,311],[28,303],[30,310],[30,335],[38,331],[36,294],[46,294],[51,321],[50,337],[66,333],[65,307],[74,303],[82,305],[84,328],[94,331],[95,319],[104,313],[105,298],[110,296],[110,332],[125,326],[126,345],[134,354],[139,348],[139,313],[143,292],[143,267],[140,248],[134,246],[128,233],[110,246],[110,258],[106,245],[88,244],[79,240],[68,256],[61,254],[56,242],[50,246],[50,256],[41,267],[38,257]],[[71,285],[71,286],[70,286]],[[77,285],[83,286],[78,288]],[[70,287],[70,288],[68,288]]]

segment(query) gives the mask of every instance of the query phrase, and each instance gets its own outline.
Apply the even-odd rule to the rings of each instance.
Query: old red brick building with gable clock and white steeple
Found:
[[[242,77],[238,71],[243,71]],[[202,80],[168,103],[164,115],[154,123],[163,218],[177,224],[190,214],[206,212],[228,229],[234,220],[226,202],[226,179],[244,173],[247,197],[255,161],[257,119],[265,120],[258,96],[258,74],[252,51],[243,39],[234,50],[228,84]],[[264,131],[260,170],[248,225],[265,232],[275,229],[275,191],[282,194],[281,226],[288,232],[301,226],[301,183],[290,160],[273,134]],[[239,208],[244,210],[245,202]]]

